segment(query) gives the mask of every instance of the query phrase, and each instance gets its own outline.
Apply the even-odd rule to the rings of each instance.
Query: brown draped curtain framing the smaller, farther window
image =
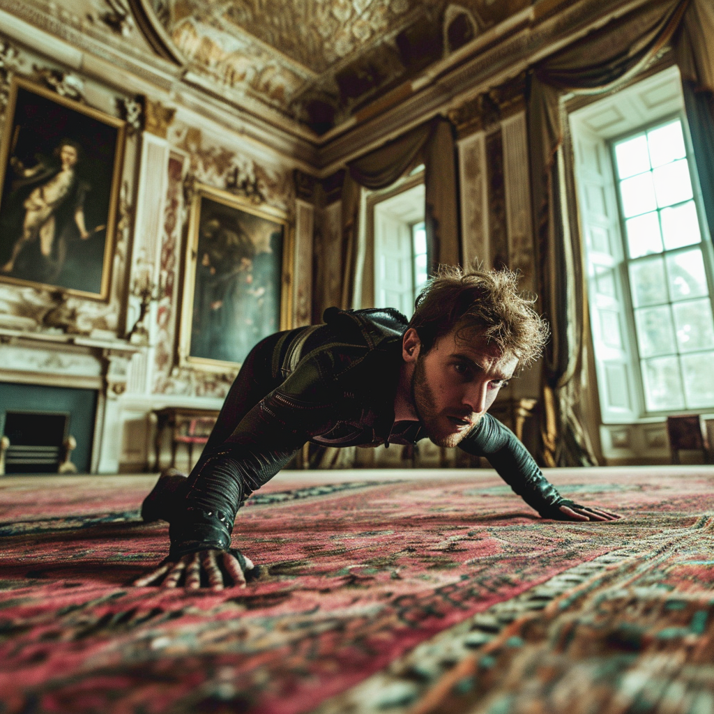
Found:
[[[424,164],[425,221],[430,272],[459,260],[456,150],[451,124],[437,116],[348,164],[342,186],[341,306],[350,308],[358,249],[361,187],[386,188]]]

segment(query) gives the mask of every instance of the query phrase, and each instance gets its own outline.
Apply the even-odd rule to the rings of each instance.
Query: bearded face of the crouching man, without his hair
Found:
[[[518,359],[481,335],[457,339],[453,331],[426,354],[416,346],[412,398],[427,436],[437,446],[456,446],[513,376]]]

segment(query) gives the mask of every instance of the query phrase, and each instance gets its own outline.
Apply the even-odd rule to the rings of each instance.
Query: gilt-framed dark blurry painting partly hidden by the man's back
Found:
[[[290,326],[292,236],[285,214],[198,186],[186,243],[181,366],[236,368]]]

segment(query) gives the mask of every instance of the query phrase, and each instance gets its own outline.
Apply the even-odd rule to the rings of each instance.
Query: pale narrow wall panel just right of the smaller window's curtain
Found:
[[[474,260],[491,266],[486,191],[486,134],[471,134],[458,142],[461,187],[461,240],[463,263]]]

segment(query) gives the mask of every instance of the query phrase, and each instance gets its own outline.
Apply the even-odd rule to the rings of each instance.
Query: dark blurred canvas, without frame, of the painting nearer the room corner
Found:
[[[241,363],[281,326],[284,228],[208,196],[198,210],[189,355]]]

